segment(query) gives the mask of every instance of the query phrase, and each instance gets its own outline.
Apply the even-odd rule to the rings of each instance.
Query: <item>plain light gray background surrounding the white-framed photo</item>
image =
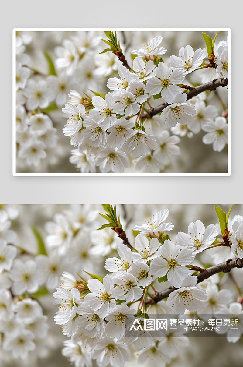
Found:
[[[1,1],[0,201],[242,203],[242,1]],[[13,177],[13,28],[231,28],[231,177]],[[237,77],[236,77],[237,76]]]

